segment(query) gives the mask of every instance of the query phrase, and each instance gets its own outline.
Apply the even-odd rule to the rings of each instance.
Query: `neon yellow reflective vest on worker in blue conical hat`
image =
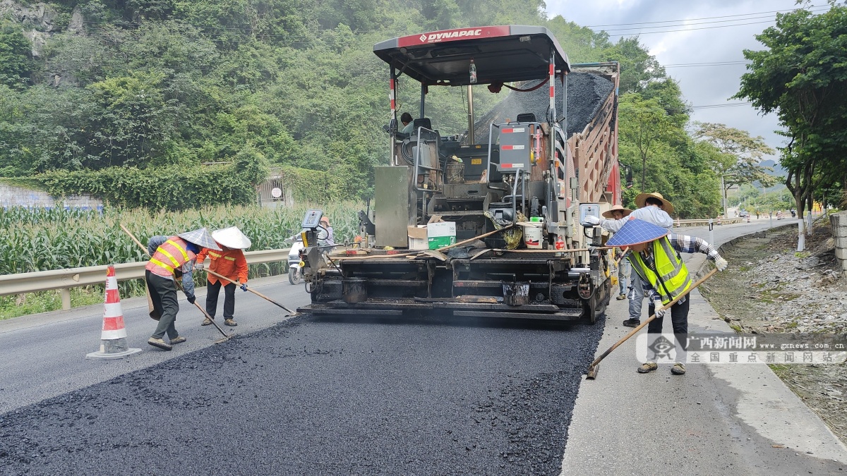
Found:
[[[667,236],[653,242],[653,262],[650,268],[641,253],[632,253],[630,263],[639,276],[650,283],[662,297],[662,304],[673,301],[691,287],[691,276],[682,259],[667,240]]]

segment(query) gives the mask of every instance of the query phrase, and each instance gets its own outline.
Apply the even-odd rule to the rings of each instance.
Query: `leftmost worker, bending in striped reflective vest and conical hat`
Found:
[[[156,330],[147,340],[147,344],[169,351],[174,344],[185,342],[185,337],[180,336],[174,324],[176,313],[180,312],[175,278],[182,277],[185,299],[194,304],[196,298],[191,271],[197,253],[203,247],[220,250],[205,228],[171,237],[152,236],[147,241],[147,252],[151,257],[145,266],[144,278],[150,291],[150,317],[158,320]],[[162,339],[165,334],[168,335],[170,343]]]

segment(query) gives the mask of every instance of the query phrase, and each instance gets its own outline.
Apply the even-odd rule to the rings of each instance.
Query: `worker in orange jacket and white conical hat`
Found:
[[[197,269],[203,269],[208,256],[212,263],[209,270],[235,281],[241,286],[241,291],[247,291],[247,260],[242,250],[249,248],[252,243],[237,226],[215,230],[212,232],[214,241],[220,246],[219,251],[203,248],[197,255]],[[220,280],[214,274],[207,274],[206,313],[214,318],[218,312],[218,295],[221,285],[224,286],[224,324],[236,326],[235,322],[235,282]],[[209,318],[201,325],[212,324]]]

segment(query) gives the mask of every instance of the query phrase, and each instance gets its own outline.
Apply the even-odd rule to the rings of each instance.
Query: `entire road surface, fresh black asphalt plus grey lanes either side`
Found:
[[[765,227],[716,227],[716,241]],[[287,307],[307,302],[301,286],[254,285]],[[667,369],[639,375],[625,345],[606,359],[597,380],[583,383],[595,353],[628,330],[619,325],[626,318],[622,302],[613,301],[606,321],[595,326],[551,327],[285,319],[278,307],[238,293],[237,337],[218,345],[218,332],[200,327],[197,312],[182,306],[177,325],[188,342],[163,352],[145,342],[154,324],[146,302],[126,300],[130,346],[144,352],[119,361],[83,358],[99,345],[97,307],[0,322],[0,473],[840,468],[820,458],[837,459],[838,449],[818,449],[837,446],[834,437],[826,439],[801,403],[789,405],[790,392],[780,397],[791,428],[817,431],[811,439],[795,431],[805,445],[817,445],[815,454],[772,449],[770,441],[794,440],[773,440],[756,427],[745,398],[757,394],[736,386],[746,377],[734,379],[733,369],[689,368],[674,379]],[[708,320],[708,310],[694,296],[692,315],[719,323]]]

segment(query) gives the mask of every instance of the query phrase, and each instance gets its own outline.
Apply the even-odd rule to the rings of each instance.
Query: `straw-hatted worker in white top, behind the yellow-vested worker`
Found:
[[[673,219],[669,213],[673,213],[673,204],[665,200],[659,192],[640,193],[635,196],[635,205],[639,208],[629,213],[623,219],[599,219],[597,217],[586,217],[586,223],[599,224],[604,230],[616,233],[630,219],[640,219],[647,223],[661,226],[668,231],[673,227]],[[641,307],[644,302],[644,293],[640,286],[631,286],[628,293],[629,318],[623,321],[627,327],[638,327],[641,324]]]

